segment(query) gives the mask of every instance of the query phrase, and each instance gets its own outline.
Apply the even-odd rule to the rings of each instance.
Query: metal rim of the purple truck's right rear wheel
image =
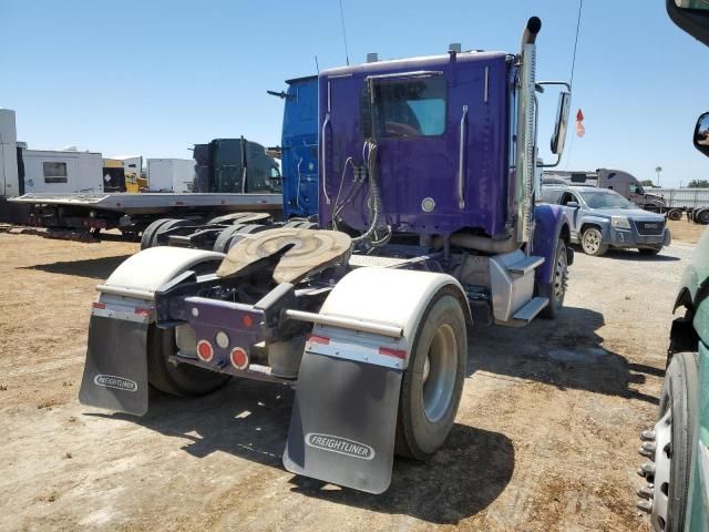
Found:
[[[448,411],[455,387],[456,360],[455,331],[448,324],[441,325],[429,346],[422,374],[423,410],[430,422],[441,420]]]

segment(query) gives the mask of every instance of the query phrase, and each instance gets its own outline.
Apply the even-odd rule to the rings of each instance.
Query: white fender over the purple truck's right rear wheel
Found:
[[[446,286],[459,291],[463,314],[469,318],[470,307],[463,287],[450,275],[377,267],[354,269],[335,286],[319,314],[401,327],[401,338],[316,325],[312,334],[331,341],[329,345],[308,341],[306,350],[404,369],[425,308],[435,294]],[[398,352],[399,356],[382,356],[381,348]]]

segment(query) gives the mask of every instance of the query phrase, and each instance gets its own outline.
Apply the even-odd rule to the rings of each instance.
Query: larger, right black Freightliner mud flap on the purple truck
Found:
[[[284,466],[369,493],[391,483],[401,371],[307,352]]]

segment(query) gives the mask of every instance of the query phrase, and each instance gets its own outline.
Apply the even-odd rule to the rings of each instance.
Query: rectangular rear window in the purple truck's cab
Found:
[[[374,126],[379,139],[438,136],[445,131],[445,79],[374,83]]]

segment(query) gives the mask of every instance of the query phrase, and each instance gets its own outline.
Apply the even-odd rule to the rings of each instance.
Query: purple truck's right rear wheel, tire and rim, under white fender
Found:
[[[444,288],[423,314],[403,374],[398,454],[425,460],[443,444],[460,405],[466,356],[463,309],[455,295]]]

